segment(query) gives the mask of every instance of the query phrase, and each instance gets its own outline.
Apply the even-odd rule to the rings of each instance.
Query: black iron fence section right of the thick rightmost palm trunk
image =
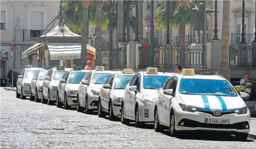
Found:
[[[229,68],[256,68],[256,46],[229,46]]]

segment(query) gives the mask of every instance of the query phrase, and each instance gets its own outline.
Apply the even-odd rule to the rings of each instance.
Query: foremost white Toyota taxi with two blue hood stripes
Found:
[[[170,127],[170,135],[181,130],[226,131],[246,140],[250,112],[231,83],[219,75],[195,75],[194,69],[173,74],[158,92],[155,130]]]

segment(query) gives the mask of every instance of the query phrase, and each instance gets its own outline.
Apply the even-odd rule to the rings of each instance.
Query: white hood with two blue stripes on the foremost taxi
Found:
[[[185,105],[194,106],[206,110],[231,110],[244,108],[244,101],[239,96],[214,96],[214,95],[188,95],[180,94]],[[210,109],[209,109],[210,108]]]

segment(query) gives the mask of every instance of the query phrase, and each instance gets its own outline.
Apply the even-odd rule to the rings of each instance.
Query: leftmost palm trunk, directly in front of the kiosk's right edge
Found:
[[[89,4],[84,3],[83,8],[83,27],[82,27],[82,41],[81,41],[81,65],[82,68],[86,66],[87,62],[87,42],[88,42],[88,9]]]

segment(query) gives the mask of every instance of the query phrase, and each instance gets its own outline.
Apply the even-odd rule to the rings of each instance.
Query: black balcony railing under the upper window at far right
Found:
[[[230,39],[231,39],[230,44],[240,44],[242,36],[241,36],[241,34],[232,33],[232,34],[230,34]],[[251,44],[253,41],[253,34],[245,34],[244,41],[246,43]]]

